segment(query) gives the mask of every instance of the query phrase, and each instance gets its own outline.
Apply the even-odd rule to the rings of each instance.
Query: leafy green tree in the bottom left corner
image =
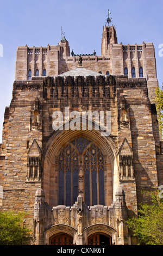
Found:
[[[22,213],[0,211],[0,245],[28,245],[30,230],[23,224]]]

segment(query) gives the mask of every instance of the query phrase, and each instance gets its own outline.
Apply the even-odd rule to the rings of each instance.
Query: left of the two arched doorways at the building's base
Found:
[[[50,240],[50,245],[73,245],[73,237],[64,233],[54,235]]]

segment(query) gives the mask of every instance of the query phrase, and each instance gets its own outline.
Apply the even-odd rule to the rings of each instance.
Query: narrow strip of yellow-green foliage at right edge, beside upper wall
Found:
[[[156,94],[155,102],[156,102],[156,111],[158,112],[159,130],[160,130],[160,134],[162,135],[163,133],[163,90],[160,88],[156,88],[155,94]]]

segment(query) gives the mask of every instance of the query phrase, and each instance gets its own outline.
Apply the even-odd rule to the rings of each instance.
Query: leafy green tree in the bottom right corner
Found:
[[[148,192],[152,203],[141,204],[137,218],[129,218],[127,225],[140,245],[163,245],[163,202],[161,192]]]

